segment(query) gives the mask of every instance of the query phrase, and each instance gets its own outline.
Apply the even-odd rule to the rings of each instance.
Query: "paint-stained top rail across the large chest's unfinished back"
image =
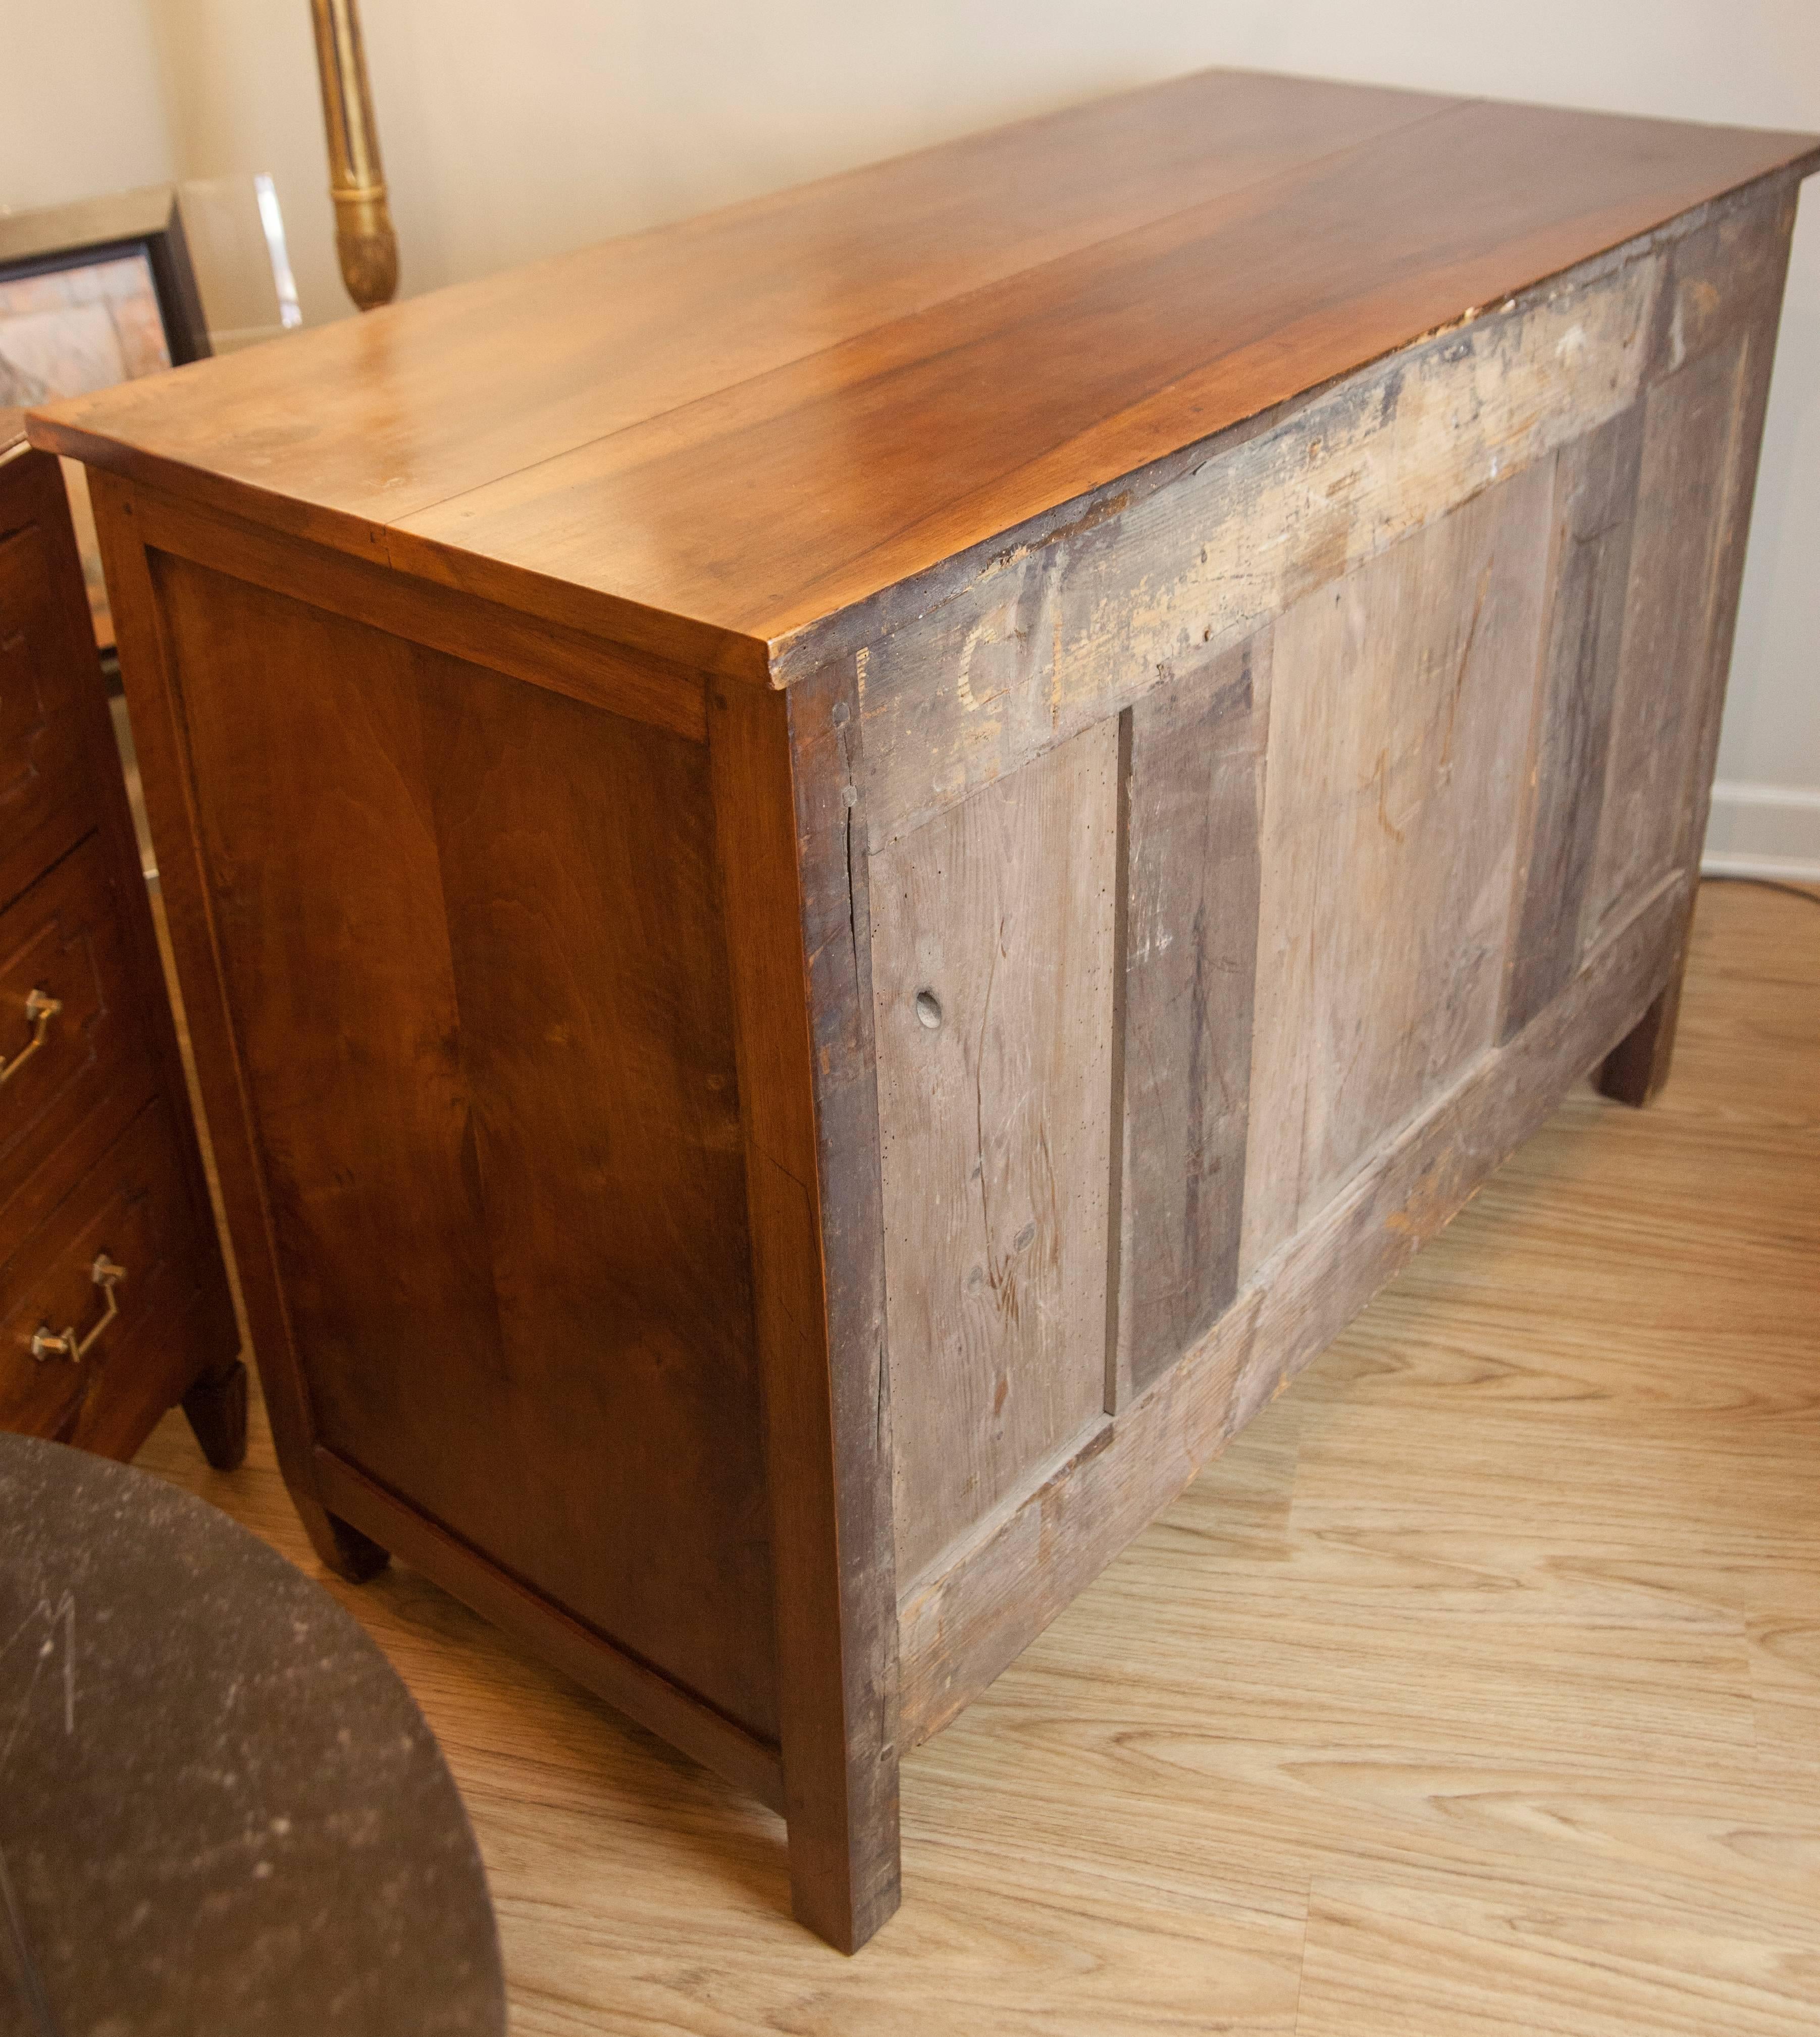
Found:
[[[1011,546],[860,660],[872,845],[1626,409],[1663,257],[1443,332]]]

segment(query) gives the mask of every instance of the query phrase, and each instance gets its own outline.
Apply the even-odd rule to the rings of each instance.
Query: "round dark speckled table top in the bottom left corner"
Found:
[[[0,1436],[0,2037],[497,2037],[461,1797],[308,1577]]]

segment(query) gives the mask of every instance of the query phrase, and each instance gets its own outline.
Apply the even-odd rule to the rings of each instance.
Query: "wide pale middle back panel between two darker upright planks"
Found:
[[[1496,1039],[1551,479],[1276,625],[1241,1279]]]

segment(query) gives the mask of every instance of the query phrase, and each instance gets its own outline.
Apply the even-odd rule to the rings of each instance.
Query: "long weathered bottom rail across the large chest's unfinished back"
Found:
[[[1202,1342],[901,1605],[905,1746],[938,1733],[1461,1208],[1659,990],[1669,878],[1531,1027],[1388,1143]]]

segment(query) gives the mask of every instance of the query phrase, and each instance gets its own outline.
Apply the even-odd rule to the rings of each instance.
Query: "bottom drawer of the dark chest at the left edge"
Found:
[[[177,1143],[149,1104],[98,1167],[0,1269],[0,1428],[108,1448],[143,1434],[192,1371],[181,1318],[200,1257]],[[96,1265],[122,1269],[112,1287]],[[82,1357],[33,1355],[49,1332]]]

